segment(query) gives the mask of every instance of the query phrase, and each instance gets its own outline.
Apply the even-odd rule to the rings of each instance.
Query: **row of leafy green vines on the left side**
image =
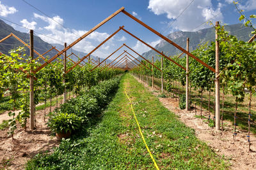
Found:
[[[40,66],[38,59],[39,57],[33,62],[29,62],[30,58],[26,55],[24,47],[11,50],[9,55],[0,56],[0,98],[4,95],[10,95],[9,103],[12,104],[12,111],[9,113],[11,117],[9,120],[9,134],[12,138],[15,129],[17,129],[17,122],[26,131],[28,118],[30,117],[28,73],[31,68],[35,69]],[[72,67],[72,63],[67,62],[67,69],[70,67]],[[91,64],[86,64],[83,67],[75,67],[72,71],[64,74],[63,62],[58,59],[56,62],[51,62],[51,64],[45,66],[38,73],[32,74],[35,77],[35,105],[42,101],[46,104],[47,99],[50,99],[51,102],[52,97],[56,96],[58,106],[58,96],[63,94],[65,88],[69,98],[71,93],[73,97],[74,95],[79,96],[100,81],[108,80],[116,74],[122,73],[118,69],[100,71],[100,68],[97,68],[90,71],[92,68]],[[65,83],[63,83],[64,78]],[[62,104],[62,100],[60,100],[60,103]],[[16,110],[20,110],[19,113],[15,112]]]

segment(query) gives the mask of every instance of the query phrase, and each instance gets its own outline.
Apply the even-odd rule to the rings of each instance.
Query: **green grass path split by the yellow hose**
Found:
[[[36,155],[27,169],[155,169],[141,139],[131,97],[148,147],[160,169],[227,169],[228,164],[170,113],[131,74],[125,74],[118,92],[96,125],[81,136],[61,142],[54,153]]]

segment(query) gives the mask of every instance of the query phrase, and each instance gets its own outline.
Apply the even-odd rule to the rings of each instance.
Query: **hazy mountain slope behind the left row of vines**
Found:
[[[20,32],[10,25],[6,24],[3,20],[0,20],[0,39],[3,39],[4,37],[10,35],[10,33],[15,34],[18,38],[22,39],[25,43],[29,44],[29,34],[25,32]],[[18,46],[24,46],[20,41],[18,41],[14,37],[10,37],[8,39],[5,39],[3,42],[0,43],[0,52],[8,54],[10,50],[13,48],[16,48]],[[56,46],[58,50],[63,50],[64,46],[60,44],[49,44],[45,41],[43,41],[40,37],[34,35],[34,48],[35,50],[42,54],[44,52],[47,52],[47,50],[50,50],[52,46]],[[27,55],[29,55],[29,48],[25,47]],[[76,50],[73,50],[72,52],[76,53],[80,58],[86,55],[87,53],[79,52]],[[58,53],[56,50],[51,50],[49,53],[45,54],[44,57],[49,56],[49,58],[53,57]],[[71,53],[71,49],[67,51],[67,55]],[[38,55],[34,54],[35,57],[38,57]],[[77,57],[73,56],[73,60],[76,62]],[[97,57],[92,56],[91,59],[98,60]],[[63,59],[63,57],[61,57]],[[103,60],[103,59],[100,59]],[[106,60],[107,62],[111,62],[111,60]]]

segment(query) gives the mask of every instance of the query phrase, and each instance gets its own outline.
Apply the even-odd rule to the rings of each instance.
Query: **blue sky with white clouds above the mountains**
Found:
[[[43,11],[56,22],[64,25],[65,28],[24,1]],[[210,25],[204,24],[204,22],[209,20],[214,23],[216,20],[220,20],[222,24],[239,23],[239,13],[237,13],[234,4],[232,4],[232,0],[24,1],[1,0],[0,17],[29,29],[34,29],[37,36],[40,36],[49,43],[72,43],[72,41],[78,38],[77,36],[83,35],[122,6],[125,7],[125,11],[128,11],[164,35],[173,31],[197,31],[198,29],[210,27]],[[241,0],[238,2],[239,8],[245,10],[246,15],[256,14],[255,0]],[[186,8],[187,6],[188,8]],[[185,8],[186,10],[184,11]],[[182,11],[184,12],[182,13]],[[182,14],[180,15],[180,13]],[[19,31],[28,32],[28,29],[9,22],[6,23]],[[97,29],[97,32],[93,32],[93,34],[83,39],[73,48],[83,52],[90,52],[122,25],[132,34],[150,43],[150,45],[154,46],[160,41],[158,36],[123,13],[120,13]],[[93,55],[102,58],[107,57],[116,48],[121,46],[122,43],[126,43],[139,53],[149,50],[148,47],[142,45],[136,39],[120,31]],[[122,50],[112,58],[120,53],[122,53]]]

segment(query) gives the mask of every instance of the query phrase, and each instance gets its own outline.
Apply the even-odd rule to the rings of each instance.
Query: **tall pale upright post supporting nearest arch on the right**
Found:
[[[216,131],[220,130],[220,80],[218,78],[218,74],[220,73],[220,49],[219,49],[219,41],[218,41],[218,26],[219,22],[216,22],[216,60],[215,60],[215,70],[216,70],[216,80],[215,80],[215,127]]]

